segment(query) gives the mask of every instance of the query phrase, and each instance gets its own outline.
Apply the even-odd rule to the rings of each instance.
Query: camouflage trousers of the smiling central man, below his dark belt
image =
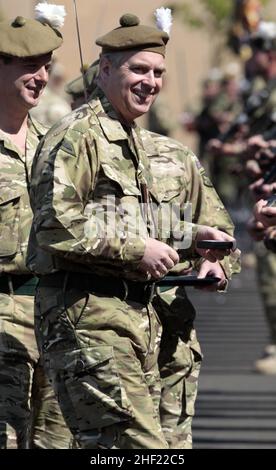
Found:
[[[151,307],[47,287],[35,324],[63,416],[82,448],[166,449],[159,418],[159,319]]]

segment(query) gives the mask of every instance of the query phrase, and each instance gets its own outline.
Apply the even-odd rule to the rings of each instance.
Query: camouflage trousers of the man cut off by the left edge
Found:
[[[71,438],[39,359],[34,298],[0,294],[0,448],[68,448]]]

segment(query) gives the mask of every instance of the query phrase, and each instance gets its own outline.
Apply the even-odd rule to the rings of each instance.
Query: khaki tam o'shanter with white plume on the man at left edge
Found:
[[[39,3],[35,19],[17,16],[0,22],[0,54],[34,57],[54,51],[62,44],[57,28],[63,26],[65,9],[61,5]]]

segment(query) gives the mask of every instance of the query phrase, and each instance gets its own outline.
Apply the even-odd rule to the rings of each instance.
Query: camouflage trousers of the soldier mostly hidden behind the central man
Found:
[[[171,449],[191,449],[202,361],[193,328],[195,310],[183,288],[156,296],[153,305],[163,325],[159,355],[162,430]]]

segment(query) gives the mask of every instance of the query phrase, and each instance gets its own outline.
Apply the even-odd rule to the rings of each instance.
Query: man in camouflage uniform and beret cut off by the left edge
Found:
[[[26,267],[31,165],[46,132],[28,111],[39,101],[52,51],[61,43],[58,31],[37,20],[17,17],[0,24],[1,448],[62,448],[70,440],[39,359],[34,334],[37,280]]]

